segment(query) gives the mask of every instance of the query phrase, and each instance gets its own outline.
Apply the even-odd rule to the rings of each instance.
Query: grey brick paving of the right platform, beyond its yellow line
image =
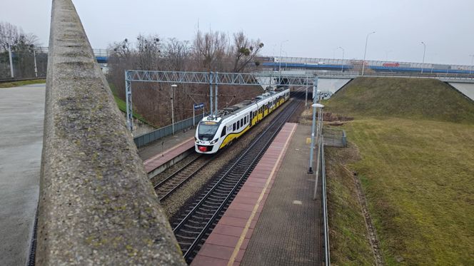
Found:
[[[323,265],[321,199],[313,200],[315,175],[306,173],[310,135],[298,125],[240,265]]]

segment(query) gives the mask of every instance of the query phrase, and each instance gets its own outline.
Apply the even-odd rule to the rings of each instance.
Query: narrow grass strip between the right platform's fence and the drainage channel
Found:
[[[358,159],[357,149],[326,147],[331,263],[374,265],[352,173],[344,165]]]

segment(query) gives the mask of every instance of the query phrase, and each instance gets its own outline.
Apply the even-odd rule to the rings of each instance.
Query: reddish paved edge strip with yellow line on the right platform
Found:
[[[295,130],[295,123],[283,126],[191,265],[240,264]]]

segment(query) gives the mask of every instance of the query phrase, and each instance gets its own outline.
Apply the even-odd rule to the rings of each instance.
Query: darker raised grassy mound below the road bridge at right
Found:
[[[447,84],[427,78],[356,78],[328,101],[351,116],[474,122],[474,104]]]

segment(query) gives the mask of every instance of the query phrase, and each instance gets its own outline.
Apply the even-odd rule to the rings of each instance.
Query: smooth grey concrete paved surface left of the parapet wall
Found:
[[[39,195],[45,84],[0,88],[0,265],[25,265]]]

